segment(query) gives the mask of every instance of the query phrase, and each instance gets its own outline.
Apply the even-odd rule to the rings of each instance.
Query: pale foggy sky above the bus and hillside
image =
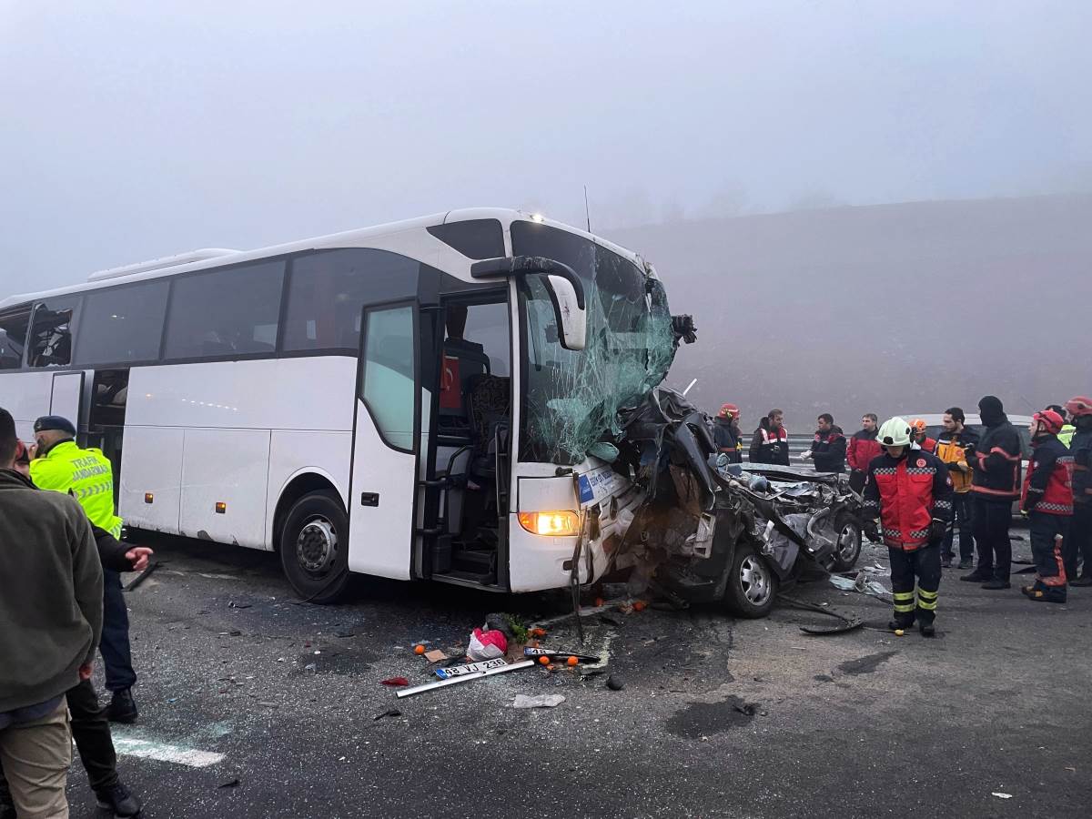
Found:
[[[1092,189],[1073,2],[0,0],[0,292],[470,205]]]

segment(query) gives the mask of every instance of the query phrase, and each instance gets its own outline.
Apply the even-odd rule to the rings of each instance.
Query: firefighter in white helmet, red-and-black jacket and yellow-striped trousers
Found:
[[[911,448],[912,430],[903,418],[885,422],[878,440],[885,454],[868,464],[864,514],[868,538],[882,536],[891,559],[894,618],[888,628],[907,629],[916,620],[922,637],[935,637],[940,543],[952,514],[948,466],[931,452]]]

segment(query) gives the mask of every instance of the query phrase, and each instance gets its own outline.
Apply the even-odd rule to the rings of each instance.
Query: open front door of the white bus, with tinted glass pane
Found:
[[[414,299],[369,305],[360,320],[349,569],[408,579],[422,436],[420,310]]]

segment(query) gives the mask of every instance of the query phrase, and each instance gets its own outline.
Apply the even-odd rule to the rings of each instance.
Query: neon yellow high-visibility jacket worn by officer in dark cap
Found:
[[[122,521],[114,513],[114,467],[100,450],[61,441],[45,458],[31,461],[31,479],[39,489],[71,495],[94,525],[121,537]]]

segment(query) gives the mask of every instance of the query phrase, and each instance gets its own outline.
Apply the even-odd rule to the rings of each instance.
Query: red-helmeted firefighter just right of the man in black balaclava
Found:
[[[1034,449],[1020,497],[1020,513],[1031,530],[1035,583],[1020,591],[1042,603],[1066,602],[1061,544],[1073,514],[1073,459],[1058,440],[1065,419],[1053,410],[1035,413],[1028,425]]]

